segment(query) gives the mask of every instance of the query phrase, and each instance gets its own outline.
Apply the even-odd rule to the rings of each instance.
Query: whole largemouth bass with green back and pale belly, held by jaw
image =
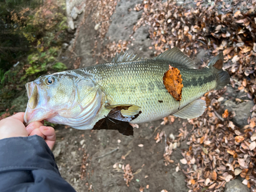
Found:
[[[165,51],[153,59],[138,58],[127,53],[116,54],[110,63],[83,69],[42,75],[26,84],[28,105],[24,120],[47,120],[70,125],[75,129],[93,129],[116,106],[127,106],[122,115],[139,116],[130,123],[143,123],[174,115],[196,118],[205,110],[205,101],[198,99],[210,90],[221,89],[229,82],[222,70],[220,53],[204,69],[195,69],[195,62],[178,48]],[[163,75],[169,66],[182,77],[182,99],[168,93]]]

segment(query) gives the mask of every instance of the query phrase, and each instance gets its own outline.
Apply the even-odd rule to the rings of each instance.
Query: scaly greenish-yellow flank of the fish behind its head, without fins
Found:
[[[188,85],[182,90],[180,102],[168,93],[163,84],[163,74],[168,70],[169,65],[180,70],[183,84]],[[166,117],[216,86],[215,79],[207,79],[212,75],[207,68],[188,69],[175,63],[154,59],[104,63],[85,68],[84,73],[93,75],[102,91],[111,98],[111,105],[135,104],[141,107],[142,113],[132,120],[132,123]],[[204,86],[197,86],[198,83],[192,81],[200,78]],[[105,112],[103,116],[106,116],[108,112]]]

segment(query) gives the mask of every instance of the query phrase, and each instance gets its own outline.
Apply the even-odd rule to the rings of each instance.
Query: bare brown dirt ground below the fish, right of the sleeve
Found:
[[[144,191],[187,191],[184,175],[176,172],[175,168],[182,159],[181,148],[187,145],[181,143],[173,153],[174,163],[165,166],[163,162],[164,142],[156,143],[154,133],[161,120],[140,124],[135,128],[134,136],[123,136],[117,131],[81,131],[65,129],[60,126],[56,129],[57,142],[54,155],[64,179],[66,179],[77,191],[139,191],[140,186],[148,189]],[[182,121],[176,120],[172,125],[161,125],[158,130],[165,131],[166,135],[178,133]],[[154,126],[154,127],[152,127]],[[120,140],[118,143],[118,140]],[[143,147],[139,147],[143,144]],[[119,147],[115,151],[102,158]],[[56,154],[59,153],[59,155]],[[82,156],[86,154],[88,159],[82,163]],[[125,156],[125,160],[121,157]],[[133,169],[134,179],[127,187],[123,180],[122,171],[113,168],[115,163],[130,164]],[[80,179],[80,167],[85,165],[86,177]],[[122,170],[122,169],[121,169]]]

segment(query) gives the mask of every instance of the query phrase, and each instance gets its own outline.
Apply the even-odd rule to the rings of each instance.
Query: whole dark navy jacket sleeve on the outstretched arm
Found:
[[[0,191],[75,191],[59,174],[45,140],[35,135],[0,140]]]

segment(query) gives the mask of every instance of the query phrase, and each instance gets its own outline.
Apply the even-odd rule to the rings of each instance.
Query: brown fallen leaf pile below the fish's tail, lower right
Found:
[[[229,120],[232,114],[227,115],[227,111],[221,121],[217,112],[220,103],[214,98],[219,91],[215,92],[206,94],[206,100],[212,99],[206,113],[188,120],[194,125],[194,131],[188,137],[189,150],[182,153],[184,159],[181,160],[186,164],[183,173],[187,186],[190,191],[221,190],[226,182],[240,176],[253,191],[256,184],[255,126],[239,129]],[[251,120],[255,122],[255,117]]]

